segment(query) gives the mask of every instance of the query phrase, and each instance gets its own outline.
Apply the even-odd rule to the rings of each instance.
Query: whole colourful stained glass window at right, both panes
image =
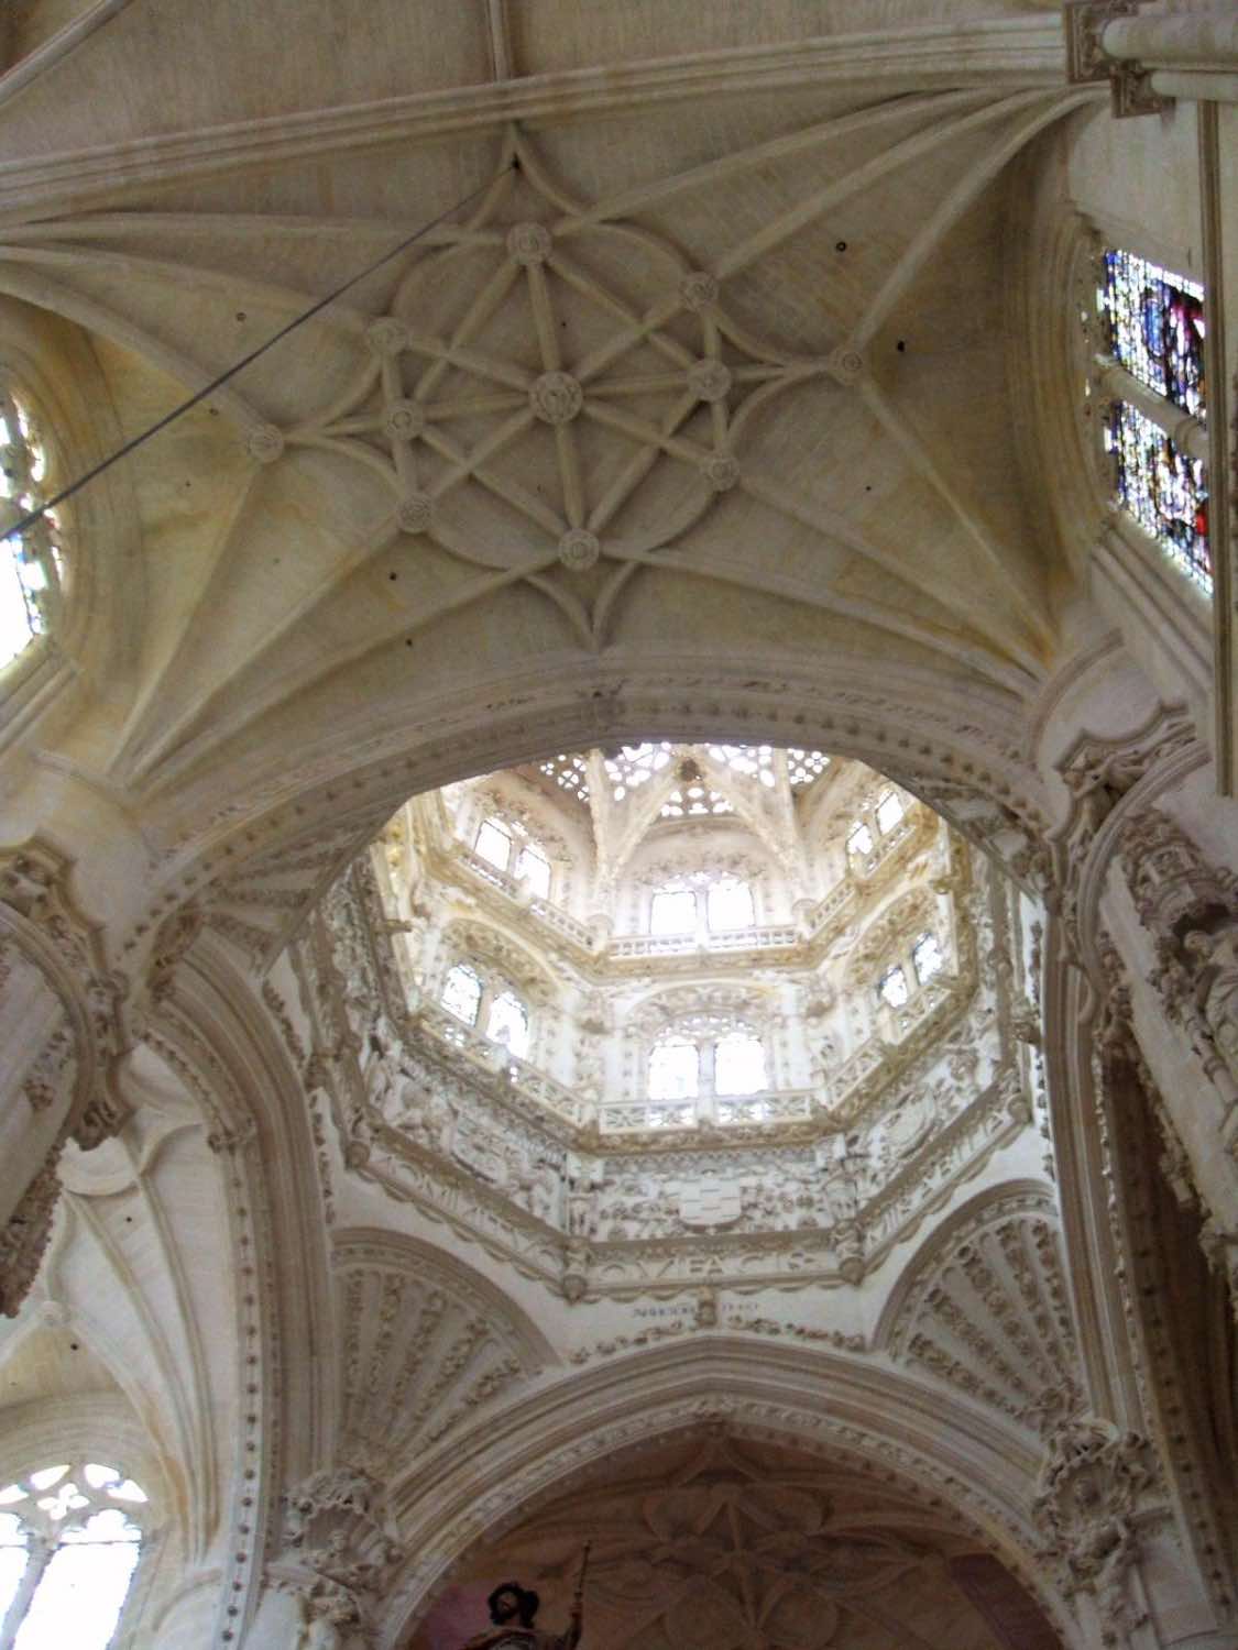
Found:
[[[1113,248],[1104,254],[1098,302],[1113,358],[1152,391],[1141,406],[1116,399],[1104,424],[1118,497],[1170,559],[1212,592],[1207,465],[1198,449],[1187,452],[1174,439],[1182,437],[1184,412],[1207,417],[1203,287]]]

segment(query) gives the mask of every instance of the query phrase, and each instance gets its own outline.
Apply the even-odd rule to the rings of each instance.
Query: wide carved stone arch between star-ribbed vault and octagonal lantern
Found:
[[[183,828],[167,818],[160,832],[167,843],[160,893],[190,899],[203,881],[236,876],[246,860],[302,851],[327,822],[337,832],[355,823],[360,851],[409,795],[561,749],[647,738],[809,744],[855,757],[919,795],[1018,874],[1048,830],[1040,776],[1022,752],[1018,706],[995,698],[962,705],[934,696],[924,681],[878,686],[877,662],[843,676],[829,662],[777,678],[768,660],[759,675],[716,662],[662,660],[627,672],[593,662],[538,681],[522,676],[494,691],[477,688],[469,705],[441,703],[418,721],[390,716],[393,733],[375,736],[370,721],[365,734],[360,728],[333,734],[330,749],[320,747],[286,780],[254,785],[221,808],[206,808],[196,787],[183,792],[177,805]]]

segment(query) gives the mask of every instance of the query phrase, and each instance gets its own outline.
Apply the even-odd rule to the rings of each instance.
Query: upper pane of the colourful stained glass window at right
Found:
[[[1203,287],[1134,252],[1104,254],[1109,350],[1149,389],[1205,414]]]

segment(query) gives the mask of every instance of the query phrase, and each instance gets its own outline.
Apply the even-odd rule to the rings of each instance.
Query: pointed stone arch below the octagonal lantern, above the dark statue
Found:
[[[990,1417],[903,1374],[801,1346],[754,1348],[710,1336],[611,1360],[517,1399],[470,1449],[459,1445],[393,1490],[406,1549],[383,1642],[406,1643],[451,1574],[480,1541],[512,1528],[606,1460],[669,1436],[721,1426],[873,1475],[943,1511],[1035,1594],[1058,1625],[1061,1600],[1038,1564],[1030,1520],[1038,1457]]]

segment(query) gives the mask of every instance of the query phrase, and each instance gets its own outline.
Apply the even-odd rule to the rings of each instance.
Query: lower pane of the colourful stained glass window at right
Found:
[[[1106,447],[1114,455],[1126,508],[1210,592],[1208,483],[1200,460],[1126,401],[1114,403]]]

